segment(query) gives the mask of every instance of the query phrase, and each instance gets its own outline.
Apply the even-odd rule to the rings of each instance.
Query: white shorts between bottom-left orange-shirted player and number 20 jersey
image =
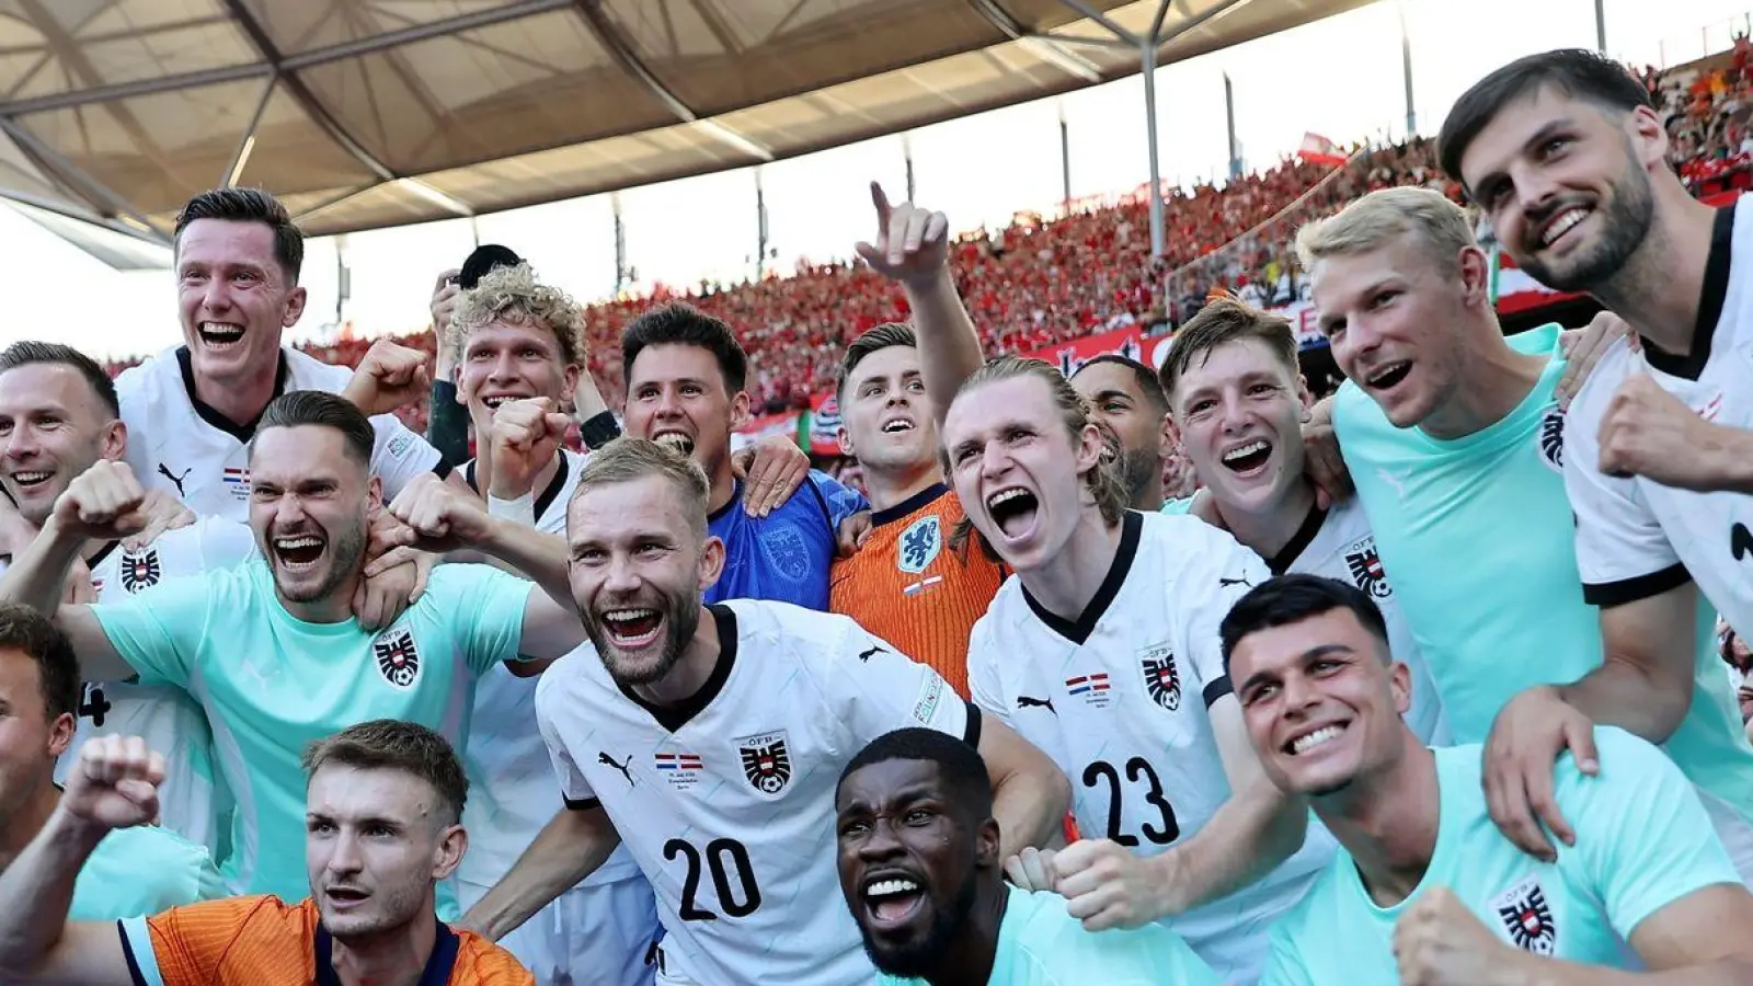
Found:
[[[466,912],[489,888],[456,881]],[[575,886],[500,939],[538,986],[650,986],[663,937],[643,875]]]

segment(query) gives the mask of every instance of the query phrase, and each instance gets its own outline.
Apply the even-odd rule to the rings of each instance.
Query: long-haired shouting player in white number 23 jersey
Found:
[[[1166,919],[1252,982],[1331,851],[1317,832],[1290,860],[1308,812],[1260,775],[1224,675],[1217,621],[1266,567],[1199,519],[1127,511],[1113,447],[1040,360],[962,382],[943,442],[982,544],[1017,572],[975,625],[969,689],[1073,779],[1096,839],[1011,875],[1090,930]]]

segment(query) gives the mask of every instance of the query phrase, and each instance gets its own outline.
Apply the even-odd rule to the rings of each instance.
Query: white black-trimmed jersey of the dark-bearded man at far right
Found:
[[[1693,351],[1609,347],[1571,404],[1564,481],[1576,509],[1576,563],[1595,605],[1644,598],[1688,577],[1730,626],[1753,626],[1753,497],[1692,493],[1600,472],[1600,421],[1620,386],[1646,374],[1706,421],[1753,430],[1753,205],[1720,209]]]

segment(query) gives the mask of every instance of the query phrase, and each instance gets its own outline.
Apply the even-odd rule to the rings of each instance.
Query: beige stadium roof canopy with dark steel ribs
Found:
[[[314,235],[756,165],[1367,0],[0,0],[0,196],[165,242],[223,182]],[[1124,37],[1131,42],[1120,40]]]

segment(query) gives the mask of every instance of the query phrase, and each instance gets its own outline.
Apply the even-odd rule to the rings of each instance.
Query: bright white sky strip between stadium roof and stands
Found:
[[[1741,30],[1753,9],[1753,0],[1604,4],[1608,51],[1639,65],[1678,65],[1727,49],[1730,30]],[[1453,100],[1497,65],[1550,47],[1595,46],[1595,0],[1404,0],[1404,12],[1422,133],[1434,133]],[[1304,132],[1339,142],[1406,133],[1397,0],[1159,68],[1164,177],[1192,184],[1227,172],[1225,74],[1250,168],[1292,153]],[[957,230],[999,226],[1022,209],[1050,212],[1064,182],[1061,118],[1069,130],[1073,196],[1146,181],[1143,81],[1134,75],[764,165],[759,181],[777,265],[789,270],[801,256],[848,256],[873,226],[866,184],[876,179],[894,198],[905,195],[908,147],[919,202],[945,211]],[[636,286],[752,275],[756,181],[756,168],[743,168],[622,191]],[[289,337],[333,337],[337,309],[361,335],[424,328],[435,275],[459,265],[477,239],[510,246],[580,300],[615,289],[614,205],[596,195],[480,216],[473,225],[456,219],[312,240],[303,275],[310,304]],[[338,256],[351,268],[345,302],[338,302]],[[126,356],[179,339],[168,272],[116,272],[4,207],[0,289],[12,298],[0,344],[60,339],[96,356]]]

